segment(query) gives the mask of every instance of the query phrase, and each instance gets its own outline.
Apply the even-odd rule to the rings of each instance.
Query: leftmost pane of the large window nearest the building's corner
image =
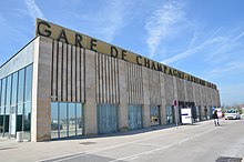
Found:
[[[51,139],[59,138],[59,107],[58,102],[51,103]]]

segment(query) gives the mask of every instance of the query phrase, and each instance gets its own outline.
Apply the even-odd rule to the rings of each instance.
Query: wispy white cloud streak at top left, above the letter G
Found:
[[[37,18],[45,19],[41,9],[38,7],[34,0],[24,0],[30,17],[35,21]]]

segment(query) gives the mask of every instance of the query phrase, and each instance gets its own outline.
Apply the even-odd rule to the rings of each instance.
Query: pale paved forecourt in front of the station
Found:
[[[112,135],[21,142],[0,139],[0,161],[20,162],[214,162],[244,158],[244,121],[155,126]]]

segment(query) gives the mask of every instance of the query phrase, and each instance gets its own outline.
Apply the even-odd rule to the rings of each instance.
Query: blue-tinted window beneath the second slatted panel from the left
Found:
[[[100,134],[118,131],[116,104],[104,103],[98,105],[98,129]]]

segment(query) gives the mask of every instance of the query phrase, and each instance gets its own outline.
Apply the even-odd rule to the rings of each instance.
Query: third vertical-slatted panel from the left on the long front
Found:
[[[126,92],[129,104],[143,104],[142,67],[126,62]]]

